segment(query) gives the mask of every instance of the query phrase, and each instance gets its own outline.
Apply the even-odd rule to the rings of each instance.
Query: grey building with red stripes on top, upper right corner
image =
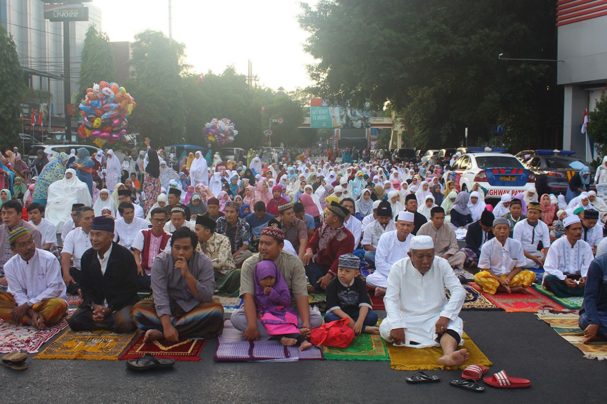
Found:
[[[592,111],[607,89],[607,11],[604,1],[557,2],[557,84],[565,86],[563,148],[591,160],[581,132],[584,111]]]

